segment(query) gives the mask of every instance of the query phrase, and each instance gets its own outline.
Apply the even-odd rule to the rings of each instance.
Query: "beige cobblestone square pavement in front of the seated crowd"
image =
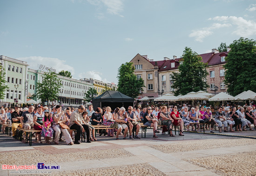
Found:
[[[255,133],[243,131],[244,136],[253,136]],[[49,175],[63,176],[255,174],[255,139],[193,133],[184,135],[169,137],[159,133],[159,138],[153,138],[153,130],[149,129],[146,138],[135,140],[122,140],[122,136],[120,140],[97,136],[97,142],[79,145],[67,145],[65,142],[47,145],[33,141],[32,146],[29,146],[0,134],[0,164],[59,165],[61,169],[52,169]],[[22,175],[11,171],[0,169],[0,176]]]

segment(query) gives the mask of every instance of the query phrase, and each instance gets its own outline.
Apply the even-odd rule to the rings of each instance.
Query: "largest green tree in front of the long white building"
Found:
[[[36,84],[36,94],[34,97],[40,98],[41,101],[47,100],[54,101],[58,98],[59,90],[62,87],[61,79],[57,78],[57,74],[54,72],[45,72],[42,76],[42,83],[39,81]]]

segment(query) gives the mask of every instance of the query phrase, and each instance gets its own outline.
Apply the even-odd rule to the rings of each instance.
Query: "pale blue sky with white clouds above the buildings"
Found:
[[[256,39],[256,0],[0,0],[0,55],[117,84],[137,53],[162,60]]]

